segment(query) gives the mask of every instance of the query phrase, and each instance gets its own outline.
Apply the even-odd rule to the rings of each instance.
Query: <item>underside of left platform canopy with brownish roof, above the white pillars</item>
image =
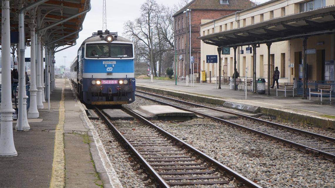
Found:
[[[10,31],[11,31],[11,43],[18,43],[18,14],[22,7],[25,7],[31,3],[37,2],[38,0],[10,0]],[[23,4],[22,4],[23,3]],[[45,42],[53,42],[53,46],[58,45],[73,45],[75,44],[75,39],[78,38],[78,33],[82,29],[82,23],[84,21],[85,15],[81,14],[67,20],[63,23],[51,26],[61,20],[70,18],[80,12],[88,9],[90,0],[49,0],[44,2],[35,8],[35,12],[30,9],[26,11],[25,14],[25,44],[29,46],[30,43],[30,29],[29,24],[31,24],[31,15],[36,16],[35,24],[36,34],[41,31],[42,35],[45,37]],[[1,3],[0,3],[1,6]],[[1,8],[0,8],[1,14]],[[2,18],[2,15],[1,15]],[[0,19],[1,19],[0,18]],[[1,27],[1,26],[0,26]],[[72,33],[72,34],[71,34]],[[69,36],[67,36],[69,35]],[[63,38],[64,36],[67,36]],[[62,38],[62,39],[61,39]],[[58,41],[57,41],[58,40]]]

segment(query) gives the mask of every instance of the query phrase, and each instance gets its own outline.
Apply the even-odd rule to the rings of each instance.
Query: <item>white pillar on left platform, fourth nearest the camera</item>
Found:
[[[42,83],[41,83],[41,34],[37,35],[37,108],[43,109],[43,102],[42,102]]]

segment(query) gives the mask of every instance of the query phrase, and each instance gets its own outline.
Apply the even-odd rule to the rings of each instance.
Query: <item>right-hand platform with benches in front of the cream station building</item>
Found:
[[[185,99],[192,98],[198,101],[209,102],[231,108],[248,107],[255,109],[256,107],[261,113],[281,119],[284,122],[305,124],[323,128],[335,129],[335,105],[329,103],[329,98],[323,98],[321,104],[317,97],[309,96],[302,99],[302,96],[294,97],[292,92],[287,92],[286,97],[284,91],[278,91],[276,96],[276,88],[270,88],[270,96],[266,94],[253,93],[245,90],[229,89],[229,85],[216,83],[189,83],[178,82],[175,80],[153,80],[136,79],[136,89],[147,90],[156,93],[171,94]],[[267,88],[267,86],[265,87]],[[136,99],[135,99],[136,100]],[[334,101],[334,96],[332,102]]]

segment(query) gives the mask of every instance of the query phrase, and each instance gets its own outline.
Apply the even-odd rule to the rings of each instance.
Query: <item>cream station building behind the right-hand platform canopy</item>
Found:
[[[224,78],[232,76],[236,59],[240,77],[264,77],[272,83],[272,72],[278,66],[280,83],[305,77],[307,82],[334,85],[334,4],[334,0],[272,0],[214,20],[201,20],[205,80],[215,82],[219,71],[221,81],[227,80]],[[207,55],[218,55],[218,47],[229,49],[221,52],[220,70],[219,63],[206,62]]]

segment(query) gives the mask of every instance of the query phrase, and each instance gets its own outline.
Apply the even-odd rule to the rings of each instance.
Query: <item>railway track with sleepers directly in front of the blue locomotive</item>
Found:
[[[112,122],[102,110],[95,110],[160,187],[232,185],[229,183],[232,180],[238,187],[260,187],[127,108],[123,110],[135,117],[135,121]]]

